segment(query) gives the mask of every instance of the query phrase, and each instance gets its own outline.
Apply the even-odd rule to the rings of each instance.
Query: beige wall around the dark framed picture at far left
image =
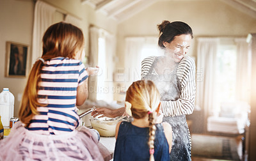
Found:
[[[31,47],[33,9],[31,1],[0,0],[0,91],[9,88],[15,96],[15,116],[19,108],[18,94],[23,93],[27,78],[4,77],[6,41],[28,44]],[[31,53],[28,53],[30,57]],[[28,62],[30,64],[30,59]]]

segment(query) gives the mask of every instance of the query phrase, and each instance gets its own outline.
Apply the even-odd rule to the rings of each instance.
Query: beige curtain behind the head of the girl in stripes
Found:
[[[38,57],[42,56],[42,38],[46,29],[51,26],[53,22],[55,11],[56,8],[53,6],[42,1],[36,1],[33,24],[31,66],[33,66]]]

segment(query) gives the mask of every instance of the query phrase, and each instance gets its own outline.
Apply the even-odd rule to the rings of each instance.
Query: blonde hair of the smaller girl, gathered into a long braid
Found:
[[[128,88],[125,101],[132,104],[132,117],[136,119],[145,118],[148,114],[149,121],[149,138],[148,146],[150,150],[150,161],[154,160],[154,140],[155,140],[155,118],[154,112],[160,103],[160,95],[154,82],[136,81]],[[150,111],[148,109],[151,109]]]

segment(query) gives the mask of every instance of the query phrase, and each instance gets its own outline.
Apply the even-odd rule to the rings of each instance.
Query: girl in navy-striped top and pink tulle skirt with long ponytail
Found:
[[[94,130],[79,127],[76,105],[88,96],[81,29],[59,22],[43,37],[43,54],[24,90],[19,122],[0,142],[0,160],[103,160]]]

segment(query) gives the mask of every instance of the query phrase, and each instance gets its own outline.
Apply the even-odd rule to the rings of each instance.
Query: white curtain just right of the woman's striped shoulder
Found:
[[[204,112],[204,129],[215,107],[215,69],[218,38],[198,38],[196,66],[196,103]]]

